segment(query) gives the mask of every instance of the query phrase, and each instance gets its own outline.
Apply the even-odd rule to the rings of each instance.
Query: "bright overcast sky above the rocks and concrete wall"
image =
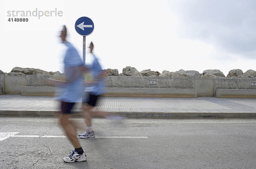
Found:
[[[4,3],[3,3],[4,2]],[[7,11],[55,10],[63,17],[28,17],[8,22]],[[0,2],[0,70],[15,66],[62,71],[59,28],[82,55],[74,24],[90,17],[102,68],[132,66],[142,71],[256,70],[256,0],[3,0]]]

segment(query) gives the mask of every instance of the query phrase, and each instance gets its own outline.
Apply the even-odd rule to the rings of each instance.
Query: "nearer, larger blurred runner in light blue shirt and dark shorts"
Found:
[[[62,93],[60,93],[60,96],[58,97],[61,101],[61,115],[59,123],[65,131],[67,138],[75,148],[70,156],[63,158],[63,161],[67,163],[74,163],[76,161],[83,162],[87,160],[85,152],[76,136],[76,122],[70,120],[71,110],[74,104],[81,100],[82,73],[87,68],[73,45],[66,41],[66,36],[67,28],[64,25],[60,37],[61,41],[67,45],[67,51],[64,56],[64,73],[66,81],[62,81],[62,84],[59,84],[62,89]]]

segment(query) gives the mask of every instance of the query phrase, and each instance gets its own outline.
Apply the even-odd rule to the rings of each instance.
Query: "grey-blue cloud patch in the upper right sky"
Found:
[[[212,43],[242,57],[256,56],[256,0],[170,1],[179,34]]]

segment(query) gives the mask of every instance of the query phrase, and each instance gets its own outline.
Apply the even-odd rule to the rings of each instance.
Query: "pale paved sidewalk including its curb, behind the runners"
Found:
[[[59,107],[54,97],[0,95],[2,116],[54,116]],[[256,99],[101,98],[97,109],[128,118],[256,118]]]

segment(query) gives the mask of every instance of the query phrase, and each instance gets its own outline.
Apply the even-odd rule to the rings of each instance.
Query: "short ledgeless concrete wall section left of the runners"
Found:
[[[26,86],[26,76],[5,76],[5,94],[21,94],[21,87]]]

